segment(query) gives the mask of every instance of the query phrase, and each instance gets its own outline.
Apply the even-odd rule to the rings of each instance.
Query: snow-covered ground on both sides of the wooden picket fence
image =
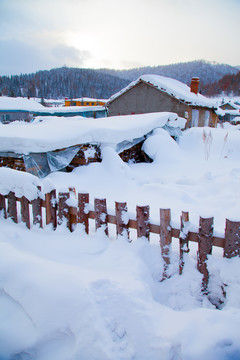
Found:
[[[73,134],[74,135],[74,134]],[[179,226],[182,210],[192,227],[199,215],[214,216],[223,235],[225,218],[240,220],[240,132],[238,126],[193,128],[178,143],[159,128],[144,143],[151,164],[126,164],[111,146],[102,163],[45,179],[0,169],[0,192],[35,196],[35,187],[69,186],[106,197],[172,209]],[[18,176],[19,175],[19,176]],[[237,360],[240,358],[240,259],[209,256],[209,298],[226,298],[218,310],[201,293],[197,245],[191,244],[178,275],[173,242],[171,277],[163,282],[157,237],[148,243],[13,224],[0,219],[0,359],[14,360]],[[93,224],[92,224],[93,225]],[[223,299],[223,298],[222,298]]]

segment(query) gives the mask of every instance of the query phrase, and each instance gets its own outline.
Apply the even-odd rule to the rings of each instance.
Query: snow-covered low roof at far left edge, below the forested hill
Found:
[[[33,99],[0,96],[0,110],[41,111],[46,108]]]

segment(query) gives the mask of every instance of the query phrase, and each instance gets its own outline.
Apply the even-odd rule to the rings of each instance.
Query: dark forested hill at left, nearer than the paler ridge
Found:
[[[34,74],[0,77],[0,95],[62,99],[109,98],[129,84],[129,80],[91,69],[62,67]]]

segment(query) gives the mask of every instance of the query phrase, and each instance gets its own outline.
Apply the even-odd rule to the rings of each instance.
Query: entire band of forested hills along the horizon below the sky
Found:
[[[143,74],[171,77],[190,85],[198,76],[204,95],[239,95],[239,69],[226,64],[192,61],[131,70],[79,69],[62,67],[33,74],[0,76],[0,96],[63,99],[92,97],[108,99]]]

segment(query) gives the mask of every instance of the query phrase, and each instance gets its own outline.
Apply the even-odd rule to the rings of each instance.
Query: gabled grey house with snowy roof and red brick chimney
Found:
[[[199,79],[191,87],[159,75],[143,75],[107,101],[109,116],[159,111],[177,113],[187,120],[186,127],[212,126],[218,121],[217,105],[199,94]]]

